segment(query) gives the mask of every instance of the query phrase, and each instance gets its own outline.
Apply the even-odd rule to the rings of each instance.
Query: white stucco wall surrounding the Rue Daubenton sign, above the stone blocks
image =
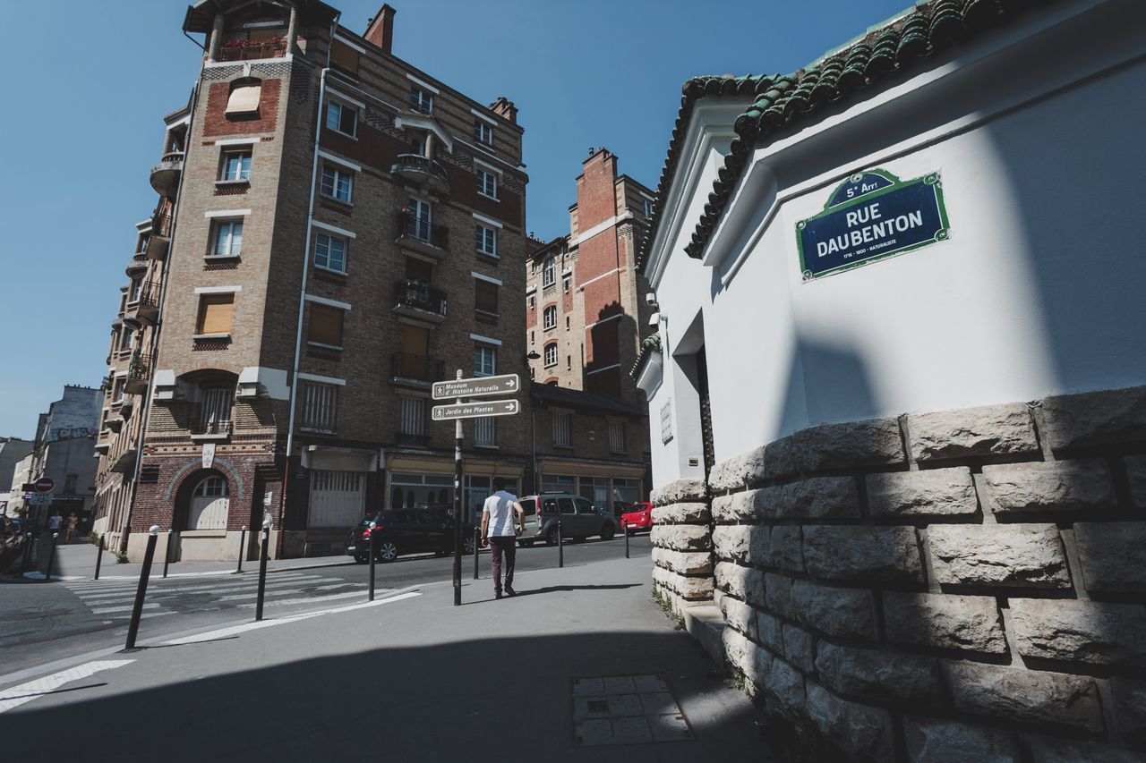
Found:
[[[1146,10],[1066,3],[1025,24],[760,149],[712,266],[682,252],[692,199],[650,268],[668,316],[656,485],[697,475],[681,464],[699,434],[661,446],[658,411],[681,398],[670,359],[698,316],[717,462],[817,423],[1146,382],[1146,65],[1125,63]],[[796,221],[873,167],[940,172],[951,238],[803,283]]]

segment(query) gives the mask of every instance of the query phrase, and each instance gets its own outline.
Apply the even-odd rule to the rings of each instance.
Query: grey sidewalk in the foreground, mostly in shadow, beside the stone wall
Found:
[[[143,642],[89,658],[133,662],[0,716],[23,730],[6,752],[42,755],[52,739],[54,760],[85,761],[772,760],[759,711],[651,601],[650,574],[647,557],[531,572],[494,600],[486,568],[461,607],[432,583],[202,643]],[[66,734],[53,731],[61,709]]]

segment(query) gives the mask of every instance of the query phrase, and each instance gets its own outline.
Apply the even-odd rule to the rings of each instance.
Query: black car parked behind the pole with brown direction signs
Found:
[[[370,528],[370,522],[375,527]],[[453,553],[454,520],[445,509],[391,509],[377,511],[351,529],[346,554],[354,561],[370,560],[370,540],[378,561],[393,561],[405,553]],[[462,552],[473,553],[473,525],[462,524]]]

